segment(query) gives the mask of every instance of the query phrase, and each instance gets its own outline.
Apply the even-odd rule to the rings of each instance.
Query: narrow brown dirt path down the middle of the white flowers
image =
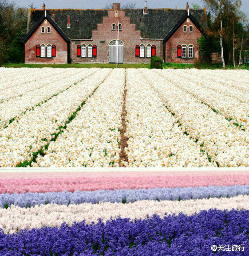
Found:
[[[128,137],[125,136],[125,132],[127,131],[127,110],[126,110],[126,100],[127,100],[127,71],[125,69],[125,85],[124,85],[124,94],[123,94],[123,104],[122,104],[122,113],[121,113],[121,120],[122,120],[122,127],[120,129],[120,137],[121,137],[121,143],[120,143],[120,154],[119,154],[119,165],[121,167],[126,167],[125,162],[128,161],[127,153],[125,153],[124,149],[128,148]]]

